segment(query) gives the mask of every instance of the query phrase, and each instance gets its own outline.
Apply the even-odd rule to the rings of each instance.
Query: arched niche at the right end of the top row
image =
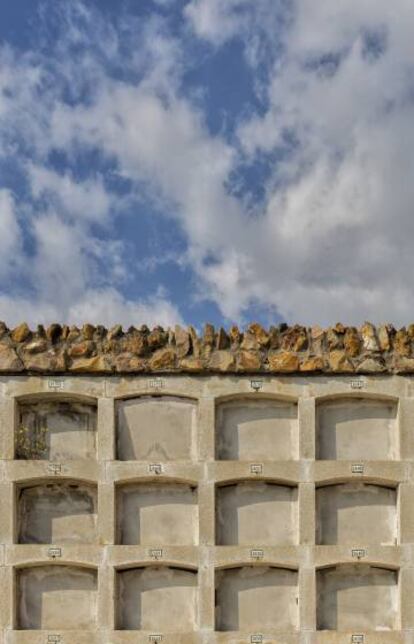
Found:
[[[342,399],[317,409],[319,459],[397,458],[397,405],[384,400]]]

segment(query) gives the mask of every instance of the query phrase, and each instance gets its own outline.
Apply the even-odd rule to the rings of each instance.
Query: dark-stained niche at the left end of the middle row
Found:
[[[70,482],[18,490],[18,543],[95,543],[96,488]]]

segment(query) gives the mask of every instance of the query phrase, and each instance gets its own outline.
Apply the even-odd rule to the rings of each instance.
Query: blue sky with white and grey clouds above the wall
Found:
[[[412,0],[0,4],[0,319],[414,320]]]

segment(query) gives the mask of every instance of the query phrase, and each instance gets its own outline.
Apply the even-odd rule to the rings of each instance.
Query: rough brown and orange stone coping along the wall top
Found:
[[[414,373],[414,324],[328,329],[249,324],[228,331],[193,327],[26,323],[8,329],[0,322],[0,373]]]

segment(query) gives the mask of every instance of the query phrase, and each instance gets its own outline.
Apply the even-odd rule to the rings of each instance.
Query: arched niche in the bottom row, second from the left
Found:
[[[118,628],[190,632],[197,628],[197,572],[168,566],[118,572]]]

